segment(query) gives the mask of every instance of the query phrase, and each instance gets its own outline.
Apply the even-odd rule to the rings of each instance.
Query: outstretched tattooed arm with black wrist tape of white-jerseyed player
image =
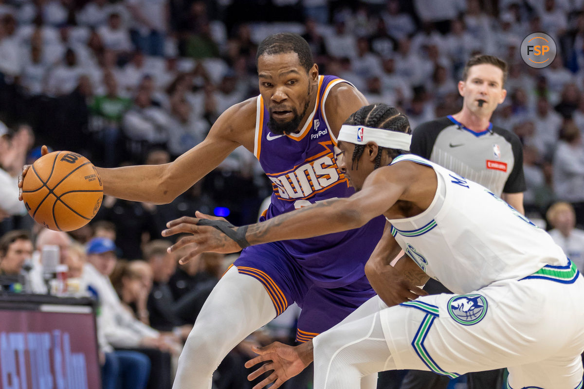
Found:
[[[403,194],[408,180],[394,166],[377,169],[367,177],[363,189],[349,198],[330,199],[284,213],[249,226],[218,227],[199,225],[197,218],[180,218],[167,223],[163,236],[190,233],[171,247],[171,251],[189,246],[190,253],[181,259],[188,261],[206,251],[232,253],[245,246],[288,239],[304,239],[363,226],[389,209]],[[393,172],[393,173],[392,173]],[[245,238],[237,244],[235,235]]]

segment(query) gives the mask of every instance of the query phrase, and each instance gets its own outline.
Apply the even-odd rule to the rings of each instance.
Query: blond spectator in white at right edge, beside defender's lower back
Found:
[[[584,271],[584,230],[575,228],[576,214],[572,206],[567,202],[556,202],[545,216],[554,227],[550,231],[552,239],[578,266],[580,272]]]

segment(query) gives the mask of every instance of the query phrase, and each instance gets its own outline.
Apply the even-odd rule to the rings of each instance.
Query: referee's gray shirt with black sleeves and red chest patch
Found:
[[[422,123],[413,131],[410,152],[498,196],[526,190],[519,138],[492,124],[484,131],[474,132],[450,115]]]

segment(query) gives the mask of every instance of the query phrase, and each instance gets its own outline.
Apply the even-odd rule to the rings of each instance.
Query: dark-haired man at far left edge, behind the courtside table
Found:
[[[13,276],[17,288],[13,292],[20,292],[16,284],[20,284],[25,292],[30,292],[27,285],[25,261],[30,260],[33,254],[33,243],[30,234],[25,230],[13,230],[0,238],[0,276]],[[2,286],[0,285],[0,291]]]

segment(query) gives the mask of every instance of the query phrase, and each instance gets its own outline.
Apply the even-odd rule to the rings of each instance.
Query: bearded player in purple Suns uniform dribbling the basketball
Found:
[[[257,65],[260,96],[228,108],[203,142],[172,163],[98,169],[105,194],[171,202],[239,145],[253,152],[273,183],[272,204],[262,220],[353,194],[333,146],[346,118],[367,105],[363,94],[342,79],[319,75],[308,43],[296,34],[267,37]],[[384,224],[377,218],[348,232],[244,250],[204,304],[173,388],[210,388],[224,356],[293,302],[303,308],[299,342],[343,320],[374,295],[364,264]]]

